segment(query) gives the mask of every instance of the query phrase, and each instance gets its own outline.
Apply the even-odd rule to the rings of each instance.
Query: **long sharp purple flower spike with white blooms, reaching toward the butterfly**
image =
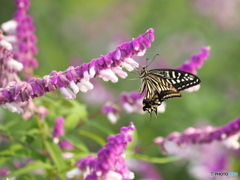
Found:
[[[96,76],[101,77],[104,81],[110,80],[115,83],[118,81],[116,75],[121,78],[127,76],[122,67],[125,67],[128,71],[138,67],[138,63],[132,59],[132,56],[145,53],[146,48],[150,47],[151,41],[154,40],[153,33],[154,30],[149,29],[138,38],[123,43],[116,50],[98,59],[93,59],[88,64],[82,64],[78,67],[71,66],[64,72],[53,71],[50,75],[44,76],[43,79],[33,77],[28,82],[9,85],[0,90],[0,104],[7,104],[7,108],[11,110],[14,102],[14,106],[16,106],[18,102],[43,96],[55,89],[59,89],[67,99],[74,99],[79,90],[87,92],[93,89],[89,80]]]

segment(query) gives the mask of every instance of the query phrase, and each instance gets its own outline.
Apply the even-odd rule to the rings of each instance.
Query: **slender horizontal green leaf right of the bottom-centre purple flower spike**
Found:
[[[133,157],[136,159],[148,161],[151,163],[157,163],[157,164],[165,164],[172,161],[178,161],[181,159],[180,157],[150,157],[150,156],[141,155],[141,154],[134,154]]]

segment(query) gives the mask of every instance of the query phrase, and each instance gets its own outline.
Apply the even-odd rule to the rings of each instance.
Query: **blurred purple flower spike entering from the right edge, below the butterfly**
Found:
[[[240,144],[238,138],[240,136],[240,117],[231,121],[222,127],[208,126],[203,129],[188,128],[182,134],[174,132],[165,139],[157,137],[154,142],[159,145],[163,152],[171,152],[169,144],[175,143],[179,147],[194,144],[209,144],[213,141],[220,141],[228,148],[238,149]]]

